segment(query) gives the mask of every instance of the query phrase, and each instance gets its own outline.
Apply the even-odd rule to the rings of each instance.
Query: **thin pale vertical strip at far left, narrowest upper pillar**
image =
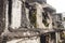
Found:
[[[9,10],[9,1],[5,0],[5,29],[4,29],[4,33],[8,33],[8,27],[9,27],[9,14],[8,14],[8,10]]]

